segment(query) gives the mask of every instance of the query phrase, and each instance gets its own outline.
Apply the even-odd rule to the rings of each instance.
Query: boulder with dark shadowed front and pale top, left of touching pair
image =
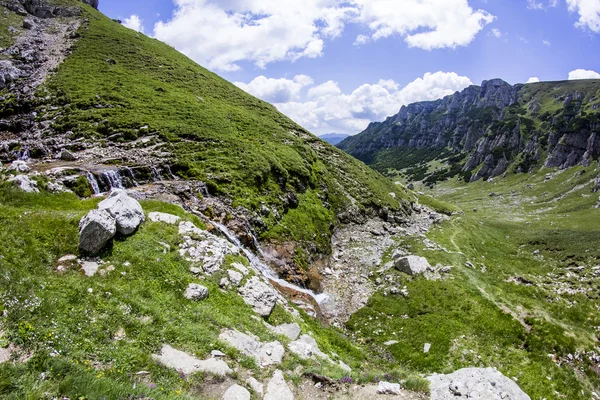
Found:
[[[95,255],[115,236],[117,223],[104,210],[92,210],[79,221],[79,249]]]

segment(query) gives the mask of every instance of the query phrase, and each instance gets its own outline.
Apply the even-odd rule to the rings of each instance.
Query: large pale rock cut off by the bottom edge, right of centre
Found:
[[[465,368],[427,379],[431,400],[531,400],[512,379],[493,368]]]

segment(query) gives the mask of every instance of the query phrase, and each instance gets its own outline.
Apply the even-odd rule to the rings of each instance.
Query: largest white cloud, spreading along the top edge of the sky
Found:
[[[174,0],[154,36],[213,70],[236,71],[248,61],[316,58],[348,23],[368,30],[355,44],[399,36],[426,50],[468,45],[494,20],[468,0]]]

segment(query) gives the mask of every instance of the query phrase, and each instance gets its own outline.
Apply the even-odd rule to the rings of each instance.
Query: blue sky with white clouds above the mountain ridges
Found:
[[[315,134],[356,134],[487,79],[600,78],[600,0],[100,0],[100,11]]]

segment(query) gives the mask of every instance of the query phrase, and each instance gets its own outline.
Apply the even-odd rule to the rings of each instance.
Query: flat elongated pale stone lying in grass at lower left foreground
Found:
[[[208,360],[199,360],[183,351],[174,349],[165,344],[160,354],[153,354],[152,358],[161,365],[173,368],[185,375],[196,372],[206,372],[213,375],[225,376],[231,375],[233,371],[223,360],[209,358]]]

